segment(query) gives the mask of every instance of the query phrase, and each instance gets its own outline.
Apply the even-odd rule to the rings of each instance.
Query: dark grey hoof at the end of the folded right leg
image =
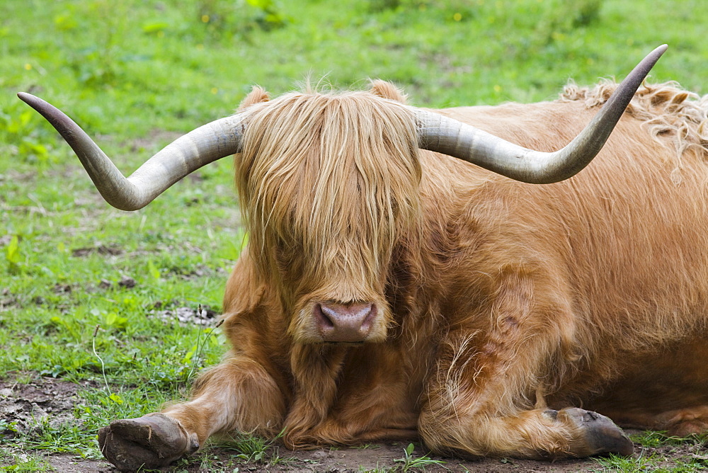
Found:
[[[589,457],[600,453],[615,453],[629,456],[634,452],[632,440],[617,427],[609,417],[577,407],[558,411],[559,421],[567,421],[581,430],[581,445],[578,457]]]

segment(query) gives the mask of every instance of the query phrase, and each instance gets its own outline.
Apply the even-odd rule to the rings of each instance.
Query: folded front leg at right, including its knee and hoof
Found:
[[[493,287],[484,307],[452,319],[422,406],[423,440],[437,452],[480,456],[631,454],[632,442],[609,418],[545,405],[544,393],[590,356],[578,349],[588,341],[578,340],[562,284],[508,270]]]

